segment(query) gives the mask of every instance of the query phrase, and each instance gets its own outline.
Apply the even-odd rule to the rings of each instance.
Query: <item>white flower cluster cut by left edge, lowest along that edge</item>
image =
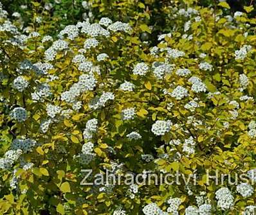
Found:
[[[0,159],[0,169],[11,169],[22,153],[22,150],[6,151],[5,156]]]

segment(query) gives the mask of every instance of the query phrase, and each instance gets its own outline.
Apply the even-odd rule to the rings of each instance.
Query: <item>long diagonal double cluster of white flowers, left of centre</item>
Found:
[[[62,92],[61,99],[68,103],[74,103],[80,94],[87,90],[93,90],[96,83],[97,81],[92,74],[82,74],[77,83],[74,83],[68,91]]]

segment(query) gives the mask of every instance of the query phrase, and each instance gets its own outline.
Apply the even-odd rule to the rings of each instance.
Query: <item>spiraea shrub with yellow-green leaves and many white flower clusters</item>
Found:
[[[56,38],[0,9],[1,214],[255,214],[252,6],[166,6],[156,46],[147,23],[85,19]],[[85,169],[182,177],[84,185]]]

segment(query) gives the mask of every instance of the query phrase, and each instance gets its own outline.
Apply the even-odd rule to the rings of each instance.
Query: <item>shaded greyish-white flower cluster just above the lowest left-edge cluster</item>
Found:
[[[22,150],[23,153],[28,153],[35,148],[37,142],[33,139],[15,139],[12,141],[12,150]]]

